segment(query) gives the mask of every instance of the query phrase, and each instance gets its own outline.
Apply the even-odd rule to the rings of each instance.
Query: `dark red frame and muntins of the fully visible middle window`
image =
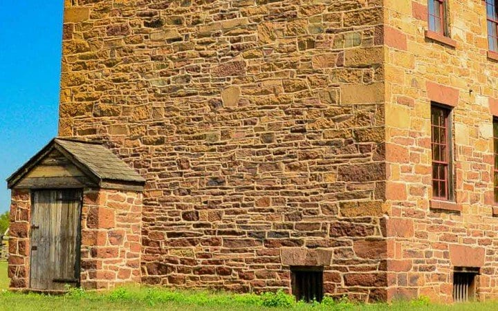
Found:
[[[433,122],[433,110],[437,109],[439,111],[443,111],[444,113],[444,122],[443,126],[438,125],[435,126]],[[453,186],[453,138],[452,138],[452,107],[445,106],[443,104],[439,104],[437,102],[431,102],[431,168],[432,168],[432,177],[431,177],[431,185],[432,185],[432,199],[433,200],[441,200],[441,201],[454,201],[454,186]],[[434,140],[434,129],[444,129],[445,131],[445,143],[441,144]],[[445,149],[445,160],[435,160],[434,159],[434,144],[439,144],[443,146]],[[441,149],[440,149],[441,150]],[[443,166],[444,168],[444,179],[434,178],[434,165]],[[444,196],[439,196],[435,194],[434,182],[438,182],[438,185],[441,185],[443,182],[444,185]],[[439,188],[441,189],[441,188]],[[441,190],[438,191],[438,194],[441,194]]]

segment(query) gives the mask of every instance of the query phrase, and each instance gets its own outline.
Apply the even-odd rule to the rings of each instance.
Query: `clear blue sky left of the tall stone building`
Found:
[[[0,212],[6,178],[57,135],[63,0],[2,0]]]

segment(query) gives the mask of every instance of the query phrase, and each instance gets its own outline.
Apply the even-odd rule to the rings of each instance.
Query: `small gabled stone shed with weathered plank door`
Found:
[[[145,179],[103,144],[56,138],[7,181],[12,287],[140,282]]]

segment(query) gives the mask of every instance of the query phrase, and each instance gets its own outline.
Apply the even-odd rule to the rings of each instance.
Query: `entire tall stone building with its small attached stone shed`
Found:
[[[50,181],[82,189],[55,283],[498,297],[495,0],[65,3],[61,139],[9,180],[12,288]],[[95,141],[145,184],[91,169]]]

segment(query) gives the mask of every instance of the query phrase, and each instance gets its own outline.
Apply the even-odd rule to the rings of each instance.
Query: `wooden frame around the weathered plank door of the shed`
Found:
[[[49,291],[57,291],[57,290],[40,290],[31,287],[31,268],[33,263],[33,211],[35,210],[35,192],[37,191],[64,191],[64,190],[73,190],[80,191],[80,199],[77,200],[79,202],[79,217],[77,219],[77,229],[76,229],[76,256],[75,256],[75,279],[77,280],[75,284],[76,288],[80,288],[81,286],[81,247],[82,247],[82,211],[83,211],[83,196],[84,189],[83,188],[39,188],[39,189],[30,189],[30,218],[29,218],[29,278],[28,278],[28,289],[31,291],[40,291],[40,292],[49,292]],[[58,292],[58,291],[57,291]]]

